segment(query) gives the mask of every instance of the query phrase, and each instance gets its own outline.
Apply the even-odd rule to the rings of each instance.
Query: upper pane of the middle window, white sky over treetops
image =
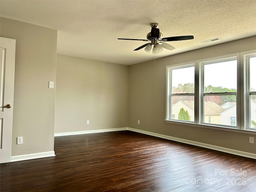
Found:
[[[236,92],[237,61],[204,64],[204,92]]]

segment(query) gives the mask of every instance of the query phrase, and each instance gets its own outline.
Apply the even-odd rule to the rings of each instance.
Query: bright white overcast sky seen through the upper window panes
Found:
[[[204,85],[223,88],[237,88],[236,60],[216,64],[206,64],[204,67]],[[194,67],[182,68],[172,71],[172,86],[178,84],[194,83]],[[250,82],[256,90],[256,57],[250,59]]]

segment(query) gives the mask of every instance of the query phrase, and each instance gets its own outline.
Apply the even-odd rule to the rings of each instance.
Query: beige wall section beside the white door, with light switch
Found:
[[[57,30],[1,18],[0,36],[16,39],[12,156],[54,150]],[[16,138],[23,137],[17,145]]]

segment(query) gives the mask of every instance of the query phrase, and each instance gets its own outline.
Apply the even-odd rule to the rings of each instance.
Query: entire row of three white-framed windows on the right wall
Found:
[[[256,50],[166,69],[167,122],[256,130]]]

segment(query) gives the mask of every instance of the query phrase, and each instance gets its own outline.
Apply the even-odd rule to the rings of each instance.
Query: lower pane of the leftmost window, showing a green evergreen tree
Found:
[[[172,96],[172,119],[194,122],[194,96]]]

